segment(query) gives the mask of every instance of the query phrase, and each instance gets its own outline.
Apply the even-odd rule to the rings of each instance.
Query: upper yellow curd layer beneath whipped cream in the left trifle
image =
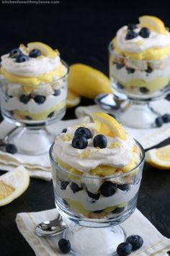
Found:
[[[58,69],[54,69],[46,74],[42,74],[39,77],[21,77],[15,74],[10,74],[2,67],[0,69],[0,72],[4,75],[7,81],[23,85],[26,93],[30,93],[32,90],[34,90],[37,85],[40,84],[40,82],[52,82],[54,76],[63,77],[64,75],[63,64],[60,64]]]

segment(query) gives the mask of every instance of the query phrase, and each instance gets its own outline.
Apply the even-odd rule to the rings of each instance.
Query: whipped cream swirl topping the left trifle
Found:
[[[60,56],[55,58],[30,58],[28,61],[17,63],[15,59],[9,58],[9,54],[1,56],[1,67],[9,72],[22,77],[38,77],[54,69],[61,64]]]

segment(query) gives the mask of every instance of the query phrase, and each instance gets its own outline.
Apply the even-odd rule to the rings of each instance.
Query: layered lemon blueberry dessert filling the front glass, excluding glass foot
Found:
[[[135,209],[143,168],[137,142],[112,116],[68,127],[51,149],[58,208],[75,216],[108,218]]]

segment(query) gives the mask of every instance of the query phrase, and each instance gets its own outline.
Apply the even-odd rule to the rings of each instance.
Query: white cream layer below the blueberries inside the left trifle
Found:
[[[66,100],[67,91],[66,89],[61,89],[61,94],[58,96],[47,96],[45,99],[45,102],[42,104],[37,104],[33,99],[31,99],[27,104],[24,104],[19,101],[18,98],[7,98],[7,101],[5,101],[6,96],[1,95],[1,106],[6,111],[29,111],[32,114],[38,114],[43,111],[46,111],[50,108],[53,108],[53,106],[57,106],[60,104],[63,100]]]

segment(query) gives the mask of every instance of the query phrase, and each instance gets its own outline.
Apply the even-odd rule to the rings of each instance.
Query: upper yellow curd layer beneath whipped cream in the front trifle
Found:
[[[58,161],[59,165],[66,169],[67,171],[71,172],[71,174],[69,174],[69,178],[70,179],[81,179],[79,177],[76,177],[75,175],[73,174],[76,174],[76,175],[83,175],[83,172],[82,171],[79,171],[77,170],[76,168],[73,168],[71,166],[68,166],[67,163],[63,163],[63,161],[61,161],[61,159],[56,159],[56,161]],[[103,166],[103,165],[100,165],[100,166],[97,166],[96,168],[94,169],[91,169],[91,171],[89,171],[89,173],[92,175],[92,176],[111,176],[112,174],[114,174],[116,171],[122,171],[123,173],[127,173],[128,171],[132,170],[133,168],[135,168],[136,164],[135,164],[135,160],[134,160],[134,157],[132,159],[132,161],[130,163],[128,163],[127,166],[123,167],[123,168],[115,168],[115,167],[112,167],[112,166]]]

